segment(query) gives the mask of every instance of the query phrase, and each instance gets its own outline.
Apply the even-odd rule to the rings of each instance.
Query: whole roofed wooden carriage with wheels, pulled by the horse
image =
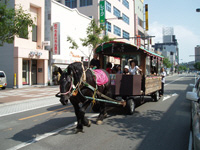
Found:
[[[100,64],[104,69],[109,57],[120,59],[122,68],[130,60],[136,60],[142,69],[138,75],[110,74],[112,98],[124,99],[128,114],[134,112],[135,96],[140,96],[140,101],[143,101],[144,96],[151,96],[154,101],[159,100],[163,56],[128,43],[115,41],[99,45],[96,53],[99,54]]]

